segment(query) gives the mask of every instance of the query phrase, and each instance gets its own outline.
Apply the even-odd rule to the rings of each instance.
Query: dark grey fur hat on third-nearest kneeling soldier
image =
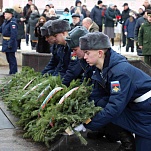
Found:
[[[63,19],[56,19],[52,21],[52,31],[53,34],[62,33],[65,31],[70,31],[71,27],[68,21]]]

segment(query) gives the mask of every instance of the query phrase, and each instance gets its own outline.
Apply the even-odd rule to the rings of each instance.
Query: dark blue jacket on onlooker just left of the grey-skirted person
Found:
[[[94,6],[90,13],[90,18],[99,26],[102,26],[102,8],[99,8],[99,6]]]

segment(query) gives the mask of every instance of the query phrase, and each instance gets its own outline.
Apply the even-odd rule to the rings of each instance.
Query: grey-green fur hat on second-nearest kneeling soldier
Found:
[[[66,37],[66,42],[70,48],[75,48],[79,46],[79,38],[86,35],[88,30],[83,26],[77,26],[71,30]]]

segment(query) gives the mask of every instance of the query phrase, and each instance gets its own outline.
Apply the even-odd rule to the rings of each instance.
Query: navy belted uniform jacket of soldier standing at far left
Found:
[[[5,20],[0,27],[0,32],[3,35],[2,52],[16,52],[17,51],[17,23],[13,17],[10,20]],[[7,37],[8,39],[5,39]]]

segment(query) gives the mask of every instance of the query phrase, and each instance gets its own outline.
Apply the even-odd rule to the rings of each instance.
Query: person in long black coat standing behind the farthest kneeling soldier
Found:
[[[38,37],[38,43],[36,46],[36,52],[39,53],[50,53],[50,44],[45,40],[45,36],[41,35],[40,28],[46,22],[46,18],[41,16],[35,27],[35,37]]]

